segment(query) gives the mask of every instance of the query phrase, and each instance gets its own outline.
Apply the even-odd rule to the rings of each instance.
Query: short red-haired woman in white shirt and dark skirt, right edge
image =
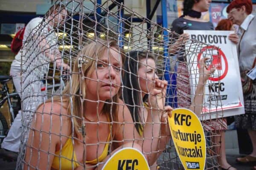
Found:
[[[256,18],[252,15],[253,3],[251,0],[233,0],[227,7],[228,18],[239,25],[239,68],[240,73],[253,69],[256,58]],[[241,78],[243,82],[244,79]],[[252,91],[244,94],[244,115],[235,117],[236,127],[246,129],[253,145],[253,152],[245,157],[236,158],[239,163],[249,164],[256,162],[256,84],[253,82]],[[256,170],[256,166],[253,167]]]

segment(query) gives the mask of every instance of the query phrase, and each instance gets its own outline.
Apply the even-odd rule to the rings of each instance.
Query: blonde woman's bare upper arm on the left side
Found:
[[[43,113],[44,112],[44,113]],[[50,115],[51,103],[35,112],[26,145],[24,170],[50,170],[56,144],[60,141],[60,116]]]

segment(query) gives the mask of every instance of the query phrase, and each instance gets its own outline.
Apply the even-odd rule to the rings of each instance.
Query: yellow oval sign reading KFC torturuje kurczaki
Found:
[[[189,109],[174,109],[168,121],[176,151],[185,170],[204,170],[206,141],[197,115]]]

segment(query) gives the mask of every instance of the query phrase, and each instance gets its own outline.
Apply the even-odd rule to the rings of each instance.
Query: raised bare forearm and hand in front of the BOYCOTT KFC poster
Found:
[[[196,115],[200,115],[203,108],[203,100],[204,100],[204,88],[205,84],[210,77],[210,75],[215,71],[215,68],[208,69],[207,65],[205,64],[205,60],[208,58],[202,58],[199,68],[199,80],[198,85],[195,89],[195,97],[190,105],[189,109],[195,112]]]

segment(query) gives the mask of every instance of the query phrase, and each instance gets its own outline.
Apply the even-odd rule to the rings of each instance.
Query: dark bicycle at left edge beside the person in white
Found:
[[[7,82],[11,81],[12,77],[9,75],[0,75],[0,84],[2,85],[2,89],[0,89],[0,107],[7,101],[9,114],[11,115],[10,124],[6,121],[3,113],[0,112],[0,144],[3,141],[3,138],[6,137],[9,127],[12,125],[18,111],[21,109],[20,106],[20,96],[17,92],[10,93],[9,87],[7,86]],[[48,89],[57,89],[60,87],[60,84],[47,85]],[[46,90],[45,86],[41,87],[41,91]]]

